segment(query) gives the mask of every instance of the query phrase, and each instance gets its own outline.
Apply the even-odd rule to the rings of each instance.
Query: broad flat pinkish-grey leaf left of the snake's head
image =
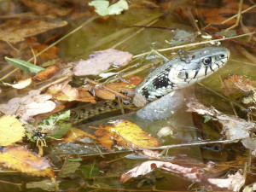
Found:
[[[73,73],[77,76],[96,75],[114,67],[123,67],[131,61],[132,55],[116,49],[96,51],[89,59],[73,62]]]

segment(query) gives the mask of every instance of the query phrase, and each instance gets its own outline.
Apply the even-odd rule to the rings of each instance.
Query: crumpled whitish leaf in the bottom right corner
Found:
[[[240,172],[228,175],[228,178],[208,178],[209,183],[215,184],[219,188],[226,188],[232,191],[240,191],[245,183],[245,177]]]

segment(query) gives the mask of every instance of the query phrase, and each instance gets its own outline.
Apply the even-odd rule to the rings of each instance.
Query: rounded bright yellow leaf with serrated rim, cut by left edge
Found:
[[[18,142],[25,136],[25,128],[15,117],[5,115],[0,118],[0,146]]]

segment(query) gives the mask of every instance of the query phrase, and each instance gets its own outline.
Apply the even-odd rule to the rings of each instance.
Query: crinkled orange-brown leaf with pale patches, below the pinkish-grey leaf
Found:
[[[95,97],[90,95],[87,88],[74,88],[66,83],[50,86],[47,93],[59,101],[96,102]]]

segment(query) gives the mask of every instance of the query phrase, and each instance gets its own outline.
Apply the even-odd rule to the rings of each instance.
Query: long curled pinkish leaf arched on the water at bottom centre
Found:
[[[153,172],[155,168],[163,169],[167,172],[173,172],[193,182],[198,182],[201,179],[201,175],[196,167],[187,168],[183,166],[178,166],[176,164],[172,164],[170,162],[149,160],[122,174],[119,181],[121,183],[125,183],[131,177],[146,175],[149,172]]]

